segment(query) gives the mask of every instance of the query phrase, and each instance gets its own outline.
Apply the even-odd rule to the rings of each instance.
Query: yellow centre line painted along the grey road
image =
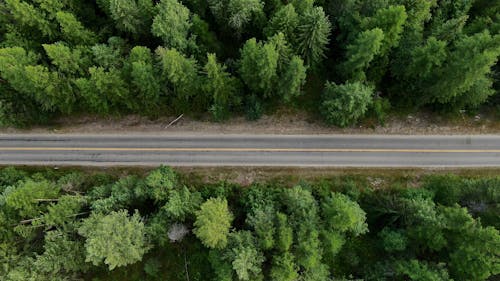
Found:
[[[0,147],[0,151],[136,151],[136,152],[403,152],[500,153],[500,149],[391,149],[391,148],[189,148],[189,147]]]

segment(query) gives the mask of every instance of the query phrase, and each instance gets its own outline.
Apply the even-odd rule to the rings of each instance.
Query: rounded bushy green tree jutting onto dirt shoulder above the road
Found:
[[[364,116],[372,95],[373,88],[360,82],[343,85],[327,82],[321,112],[328,124],[346,127]]]

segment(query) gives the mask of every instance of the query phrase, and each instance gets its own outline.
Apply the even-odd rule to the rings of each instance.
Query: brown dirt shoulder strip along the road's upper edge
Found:
[[[224,123],[195,120],[182,117],[176,123],[169,123],[176,117],[162,117],[149,120],[129,115],[103,118],[81,116],[60,118],[52,125],[29,129],[1,129],[0,133],[191,133],[191,134],[399,134],[399,135],[454,135],[454,134],[499,134],[500,120],[485,116],[461,116],[443,119],[425,113],[388,118],[385,126],[372,125],[370,121],[350,128],[330,127],[305,113],[277,113],[265,115],[257,121],[236,117]]]

